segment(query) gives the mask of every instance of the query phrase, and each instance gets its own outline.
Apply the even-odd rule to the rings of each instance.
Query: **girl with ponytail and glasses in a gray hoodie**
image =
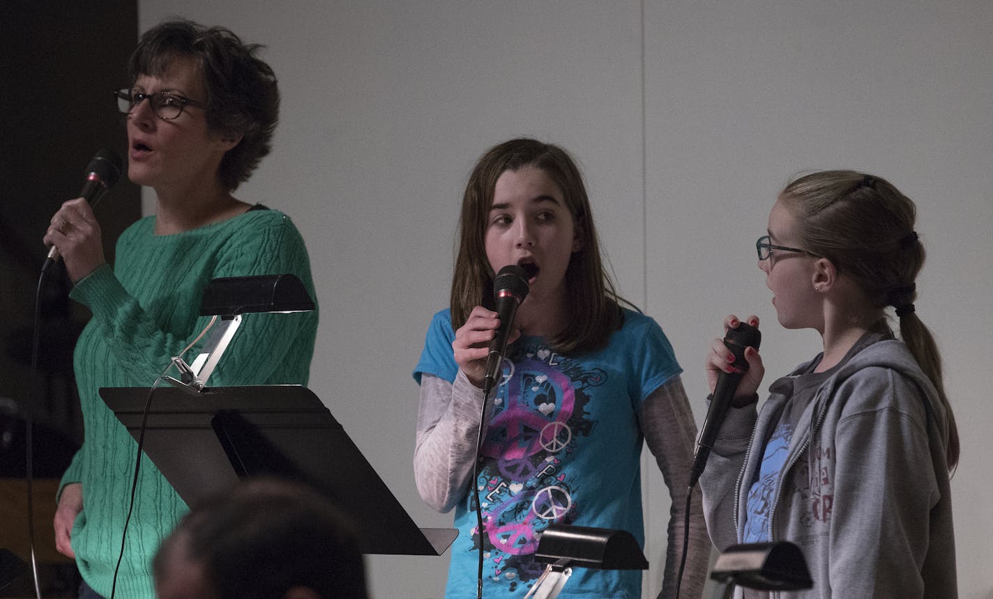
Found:
[[[813,588],[739,588],[739,597],[957,596],[948,477],[958,433],[936,345],[914,306],[924,261],[915,215],[890,182],[850,171],[794,180],[773,206],[756,244],[759,268],[780,324],[817,330],[823,351],[758,406],[765,369],[746,349],[750,368],[700,487],[719,549],[791,541]],[[713,390],[734,356],[720,339],[711,348]]]

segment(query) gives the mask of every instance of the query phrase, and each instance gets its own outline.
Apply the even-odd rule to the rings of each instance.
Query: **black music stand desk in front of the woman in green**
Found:
[[[149,390],[99,392],[137,439]],[[441,555],[459,534],[418,528],[306,387],[157,388],[143,450],[192,507],[239,478],[277,476],[310,484],[353,520],[363,553]]]

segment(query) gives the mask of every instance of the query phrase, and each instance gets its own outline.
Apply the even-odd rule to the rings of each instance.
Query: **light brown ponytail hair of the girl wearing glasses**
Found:
[[[937,390],[948,422],[948,468],[958,463],[955,417],[944,391],[941,355],[918,317],[915,280],[924,248],[914,230],[917,206],[888,180],[854,171],[813,173],[786,185],[780,198],[797,217],[803,248],[830,260],[857,282],[883,315],[876,328],[889,330],[885,311],[896,307],[900,336]]]

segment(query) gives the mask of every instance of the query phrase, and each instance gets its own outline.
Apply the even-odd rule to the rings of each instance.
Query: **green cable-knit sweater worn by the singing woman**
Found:
[[[316,299],[303,239],[285,214],[249,210],[175,235],[154,235],[154,226],[155,217],[149,216],[128,227],[117,242],[114,268],[93,271],[70,296],[93,316],[74,356],[85,438],[62,486],[82,483],[83,509],[72,528],[72,549],[83,580],[104,597],[110,596],[121,548],[137,443],[97,390],[151,387],[210,320],[198,313],[213,278],[292,273]],[[245,315],[210,385],[305,385],[317,322],[316,311]],[[203,342],[184,356],[188,362]],[[142,456],[117,597],[155,596],[151,559],[187,511]]]

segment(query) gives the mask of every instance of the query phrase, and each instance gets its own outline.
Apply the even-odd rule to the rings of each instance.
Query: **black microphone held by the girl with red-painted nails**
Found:
[[[738,325],[738,328],[729,328],[724,336],[724,345],[735,355],[732,364],[739,372],[724,372],[717,375],[717,384],[714,385],[714,395],[710,400],[710,408],[707,410],[707,417],[703,419],[703,431],[700,432],[700,440],[697,441],[696,453],[693,455],[693,469],[690,470],[689,486],[693,488],[703,469],[707,465],[707,458],[710,457],[710,450],[717,439],[717,433],[721,429],[721,424],[728,416],[731,408],[731,400],[735,397],[738,384],[748,371],[748,362],[745,360],[745,348],[754,347],[759,349],[762,343],[762,332],[745,322]]]

